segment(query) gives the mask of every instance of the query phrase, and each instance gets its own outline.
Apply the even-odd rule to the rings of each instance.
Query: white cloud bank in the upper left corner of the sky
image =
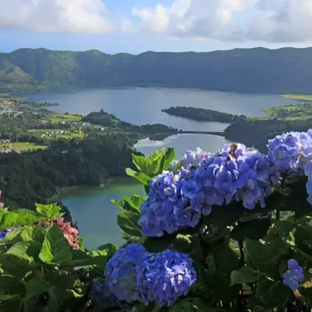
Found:
[[[110,32],[101,0],[0,0],[0,28],[36,32]]]

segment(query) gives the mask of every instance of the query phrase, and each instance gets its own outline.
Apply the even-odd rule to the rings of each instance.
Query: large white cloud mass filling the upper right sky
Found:
[[[295,42],[312,39],[312,0],[176,0],[134,8],[140,30],[174,37]]]

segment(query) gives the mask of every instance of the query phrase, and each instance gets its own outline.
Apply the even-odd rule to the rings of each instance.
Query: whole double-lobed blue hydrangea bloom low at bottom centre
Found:
[[[155,302],[159,307],[171,306],[186,295],[197,278],[188,255],[170,250],[148,253],[137,243],[119,248],[104,274],[107,293],[127,302]]]

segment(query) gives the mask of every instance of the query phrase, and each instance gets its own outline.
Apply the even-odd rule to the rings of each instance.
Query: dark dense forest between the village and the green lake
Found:
[[[132,167],[133,141],[122,134],[58,139],[45,150],[0,154],[0,189],[10,209],[45,203],[60,188],[99,186]],[[139,154],[139,153],[138,153]]]

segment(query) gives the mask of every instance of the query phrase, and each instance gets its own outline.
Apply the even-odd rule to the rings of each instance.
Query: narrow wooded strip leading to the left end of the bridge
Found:
[[[92,124],[101,125],[103,127],[117,128],[124,131],[141,132],[145,134],[158,134],[166,132],[177,132],[178,130],[160,123],[134,125],[117,118],[113,114],[109,114],[100,110],[99,112],[92,112],[82,118],[82,121],[87,121]]]

